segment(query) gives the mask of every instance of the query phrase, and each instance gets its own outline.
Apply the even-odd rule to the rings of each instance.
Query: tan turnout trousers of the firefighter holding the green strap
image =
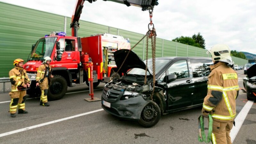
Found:
[[[231,144],[230,130],[233,127],[233,121],[220,122],[213,120],[212,123],[212,143],[213,144]]]

